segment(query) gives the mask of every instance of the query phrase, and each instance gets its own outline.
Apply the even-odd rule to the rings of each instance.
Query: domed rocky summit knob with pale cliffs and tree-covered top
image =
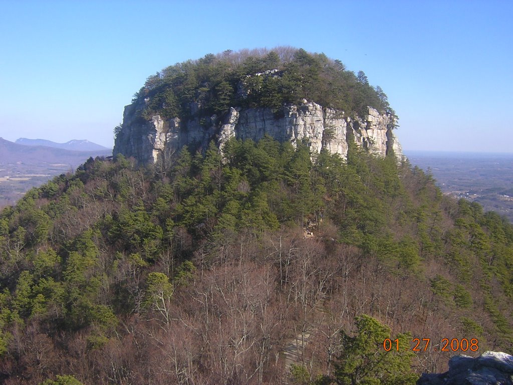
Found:
[[[227,51],[150,76],[125,107],[114,155],[156,163],[185,145],[206,149],[214,141],[222,150],[230,138],[270,136],[344,159],[352,142],[402,159],[397,119],[380,87],[324,54]]]

